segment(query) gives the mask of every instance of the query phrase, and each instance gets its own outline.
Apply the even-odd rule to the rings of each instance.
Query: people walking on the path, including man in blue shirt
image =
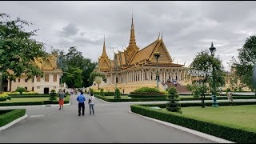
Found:
[[[72,94],[72,92],[71,92]],[[74,94],[74,91],[73,91]],[[58,110],[63,110],[63,105],[64,105],[64,97],[65,97],[65,93],[64,90],[59,90],[58,93],[58,105],[59,105],[59,109]],[[90,94],[90,98],[88,98],[88,105],[90,108],[90,114],[94,114],[94,95]],[[78,101],[78,116],[81,115],[81,109],[82,109],[82,115],[85,115],[85,102],[86,102],[86,97],[83,95],[82,90],[80,91],[80,94],[77,97],[77,101]]]

